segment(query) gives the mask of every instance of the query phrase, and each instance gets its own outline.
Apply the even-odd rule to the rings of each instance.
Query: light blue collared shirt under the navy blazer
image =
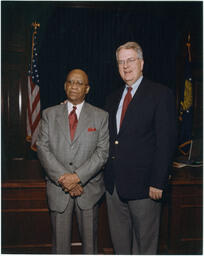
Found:
[[[131,94],[132,94],[132,98],[133,96],[135,95],[141,81],[143,79],[143,76],[141,76],[131,87],[132,87],[132,90],[131,90]],[[125,89],[123,91],[123,94],[122,94],[122,97],[121,97],[121,100],[120,100],[120,104],[118,106],[118,110],[117,110],[117,114],[116,114],[116,126],[117,126],[117,133],[119,133],[119,130],[120,130],[120,119],[121,119],[121,114],[122,114],[122,108],[123,108],[123,101],[125,99],[125,96],[127,94],[127,88],[128,88],[128,85],[125,85]]]

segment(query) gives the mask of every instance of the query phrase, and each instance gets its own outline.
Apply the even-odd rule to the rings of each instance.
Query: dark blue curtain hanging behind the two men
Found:
[[[80,68],[89,76],[87,101],[103,107],[106,96],[123,84],[115,51],[137,41],[144,52],[144,76],[173,91],[176,84],[178,31],[170,15],[155,8],[99,9],[57,7],[40,35],[42,109],[62,102],[68,71]]]

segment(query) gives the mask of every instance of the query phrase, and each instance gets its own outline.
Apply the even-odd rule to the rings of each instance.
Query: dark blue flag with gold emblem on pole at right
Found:
[[[193,92],[192,92],[192,71],[191,71],[191,44],[188,36],[187,54],[185,60],[185,82],[181,94],[179,106],[179,151],[188,155],[192,142],[193,126]]]

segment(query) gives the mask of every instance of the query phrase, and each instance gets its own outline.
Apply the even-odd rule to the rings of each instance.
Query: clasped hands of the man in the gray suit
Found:
[[[76,173],[65,173],[59,178],[58,182],[64,190],[66,189],[69,192],[78,185],[80,179]]]

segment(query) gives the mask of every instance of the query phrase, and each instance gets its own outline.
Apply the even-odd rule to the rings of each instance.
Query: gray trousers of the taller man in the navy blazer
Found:
[[[147,199],[122,200],[106,192],[108,219],[116,254],[157,253],[161,203]]]

